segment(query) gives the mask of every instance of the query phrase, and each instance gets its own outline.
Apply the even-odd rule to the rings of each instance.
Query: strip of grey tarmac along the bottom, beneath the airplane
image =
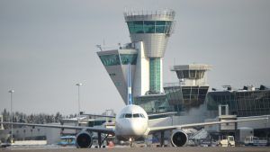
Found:
[[[236,148],[201,148],[201,147],[184,147],[184,148],[3,148],[1,152],[270,152],[269,147],[236,147]]]

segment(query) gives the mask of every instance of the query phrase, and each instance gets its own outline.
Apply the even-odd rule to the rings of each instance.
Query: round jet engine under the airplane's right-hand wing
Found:
[[[174,130],[171,136],[171,142],[174,147],[183,147],[187,143],[187,135],[183,130]]]

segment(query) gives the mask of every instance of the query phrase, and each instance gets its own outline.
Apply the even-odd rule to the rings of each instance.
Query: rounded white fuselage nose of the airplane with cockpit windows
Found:
[[[148,130],[148,114],[138,105],[127,105],[116,115],[115,136],[119,139],[145,137]]]

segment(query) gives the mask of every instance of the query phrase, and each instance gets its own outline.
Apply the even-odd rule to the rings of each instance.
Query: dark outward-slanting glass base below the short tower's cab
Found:
[[[167,101],[175,112],[186,112],[204,103],[209,86],[166,86]]]

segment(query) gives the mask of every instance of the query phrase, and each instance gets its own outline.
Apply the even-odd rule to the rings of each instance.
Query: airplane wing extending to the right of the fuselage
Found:
[[[261,120],[268,121],[268,117],[238,120],[238,121],[212,121],[212,122],[190,123],[190,124],[174,125],[174,126],[150,127],[148,129],[148,134],[151,134],[157,131],[164,131],[164,130],[177,130],[177,129],[180,130],[180,129],[186,129],[186,128],[200,127],[200,126],[211,126],[211,125],[216,125],[216,124],[221,124],[221,123],[233,123],[233,122],[242,122],[242,121],[261,121]]]

